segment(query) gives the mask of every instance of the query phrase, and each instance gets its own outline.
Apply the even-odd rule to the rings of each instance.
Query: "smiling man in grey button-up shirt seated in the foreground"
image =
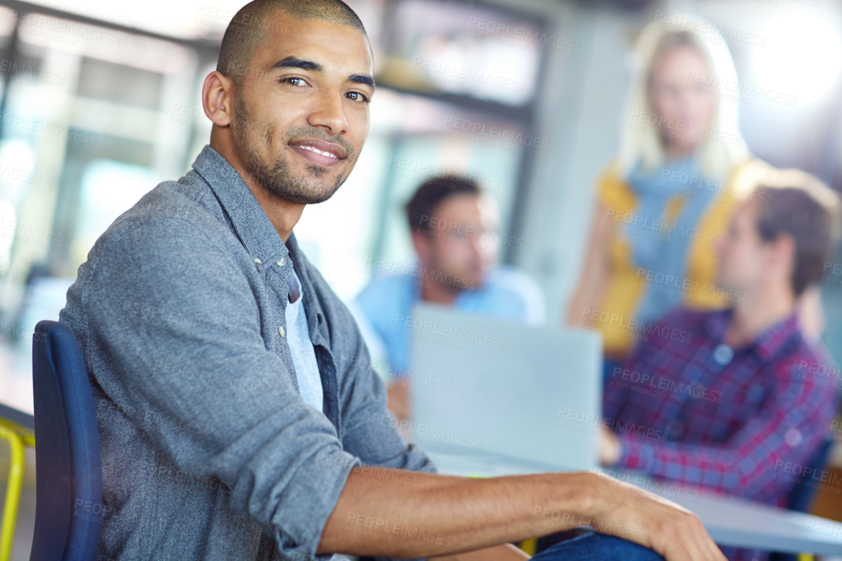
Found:
[[[100,556],[521,559],[507,542],[591,521],[671,561],[721,559],[668,501],[592,473],[441,476],[388,423],[354,319],[292,234],[354,167],[372,74],[344,3],[249,3],[205,77],[210,146],[79,268],[61,321],[98,405]],[[536,526],[544,509],[570,516]]]

